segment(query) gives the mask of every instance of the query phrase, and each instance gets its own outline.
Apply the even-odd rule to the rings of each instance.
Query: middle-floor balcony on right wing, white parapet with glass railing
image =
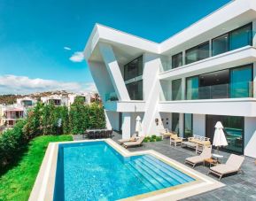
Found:
[[[186,100],[172,100],[165,92],[159,112],[200,113],[230,116],[256,116],[255,82],[238,82],[189,89]]]

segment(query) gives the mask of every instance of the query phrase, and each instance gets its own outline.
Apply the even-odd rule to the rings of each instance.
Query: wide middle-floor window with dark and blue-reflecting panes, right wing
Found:
[[[186,99],[252,97],[252,64],[186,79]]]

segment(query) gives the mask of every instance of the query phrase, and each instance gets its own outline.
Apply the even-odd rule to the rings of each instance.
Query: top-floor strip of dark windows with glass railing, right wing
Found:
[[[213,38],[211,40],[212,43],[210,43],[211,45],[208,42],[198,44],[197,46],[192,43],[191,45],[187,44],[191,48],[184,50],[184,54],[181,53],[181,50],[180,53],[170,54],[172,56],[161,60],[160,73],[248,45],[255,47],[255,44],[252,43],[252,38],[255,35],[256,32],[252,31],[252,23],[250,23]]]

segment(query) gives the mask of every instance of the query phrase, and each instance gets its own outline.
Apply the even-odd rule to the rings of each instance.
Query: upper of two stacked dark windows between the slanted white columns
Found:
[[[143,74],[143,56],[136,58],[124,66],[124,81]]]

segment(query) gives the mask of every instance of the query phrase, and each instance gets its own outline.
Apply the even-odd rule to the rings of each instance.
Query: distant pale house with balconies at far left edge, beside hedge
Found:
[[[0,126],[12,128],[18,120],[27,115],[27,110],[20,104],[0,105]]]

